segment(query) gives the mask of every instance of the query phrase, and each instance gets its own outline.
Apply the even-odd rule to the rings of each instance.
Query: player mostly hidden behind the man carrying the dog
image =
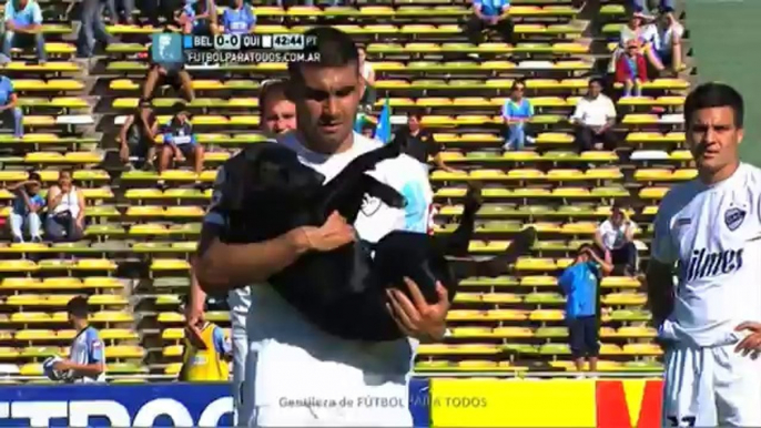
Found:
[[[261,128],[262,131],[270,136],[277,136],[296,129],[296,106],[285,95],[287,81],[282,79],[268,80],[262,83],[258,95],[258,105],[261,109]],[[223,173],[219,172],[217,176]],[[210,240],[219,236],[219,227],[215,224],[223,222],[223,214],[215,212],[213,208],[209,211],[204,218],[203,231],[206,236],[203,240]],[[191,304],[187,305],[186,322],[190,325],[203,319],[204,302],[206,300],[206,293],[200,287],[199,282],[194,275],[191,275]],[[230,306],[230,320],[232,324],[232,342],[233,342],[233,398],[235,401],[235,424],[246,425],[251,417],[253,409],[246,406],[243,399],[245,367],[247,358],[255,361],[255,355],[248,356],[248,338],[246,336],[246,317],[251,303],[250,287],[235,288],[227,293],[227,305]],[[251,340],[251,354],[255,354],[258,349],[258,340]],[[253,394],[253,388],[248,388],[248,394]]]

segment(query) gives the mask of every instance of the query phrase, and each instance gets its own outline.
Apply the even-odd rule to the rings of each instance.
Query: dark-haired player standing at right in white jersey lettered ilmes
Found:
[[[761,170],[740,162],[743,110],[726,84],[688,95],[698,179],[656,216],[647,278],[666,347],[663,426],[761,426]]]

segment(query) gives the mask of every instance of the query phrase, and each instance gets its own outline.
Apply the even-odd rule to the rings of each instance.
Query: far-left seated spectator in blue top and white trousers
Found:
[[[45,201],[40,195],[40,174],[32,172],[27,180],[8,186],[8,191],[16,194],[10,215],[11,237],[16,243],[24,242],[24,227],[32,242],[42,242],[40,214]]]

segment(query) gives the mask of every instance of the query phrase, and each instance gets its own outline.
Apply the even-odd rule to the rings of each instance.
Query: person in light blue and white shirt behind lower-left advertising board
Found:
[[[69,320],[77,329],[71,343],[70,357],[53,365],[55,370],[69,371],[69,381],[103,383],[105,381],[105,355],[100,333],[91,326],[88,317],[88,299],[77,296],[67,304]]]

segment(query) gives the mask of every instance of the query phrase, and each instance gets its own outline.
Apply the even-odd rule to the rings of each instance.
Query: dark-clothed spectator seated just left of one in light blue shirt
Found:
[[[159,122],[148,102],[126,116],[122,129],[119,131],[119,157],[125,165],[153,169],[156,155],[155,137],[159,132]],[[138,157],[136,163],[130,163],[130,157]]]

